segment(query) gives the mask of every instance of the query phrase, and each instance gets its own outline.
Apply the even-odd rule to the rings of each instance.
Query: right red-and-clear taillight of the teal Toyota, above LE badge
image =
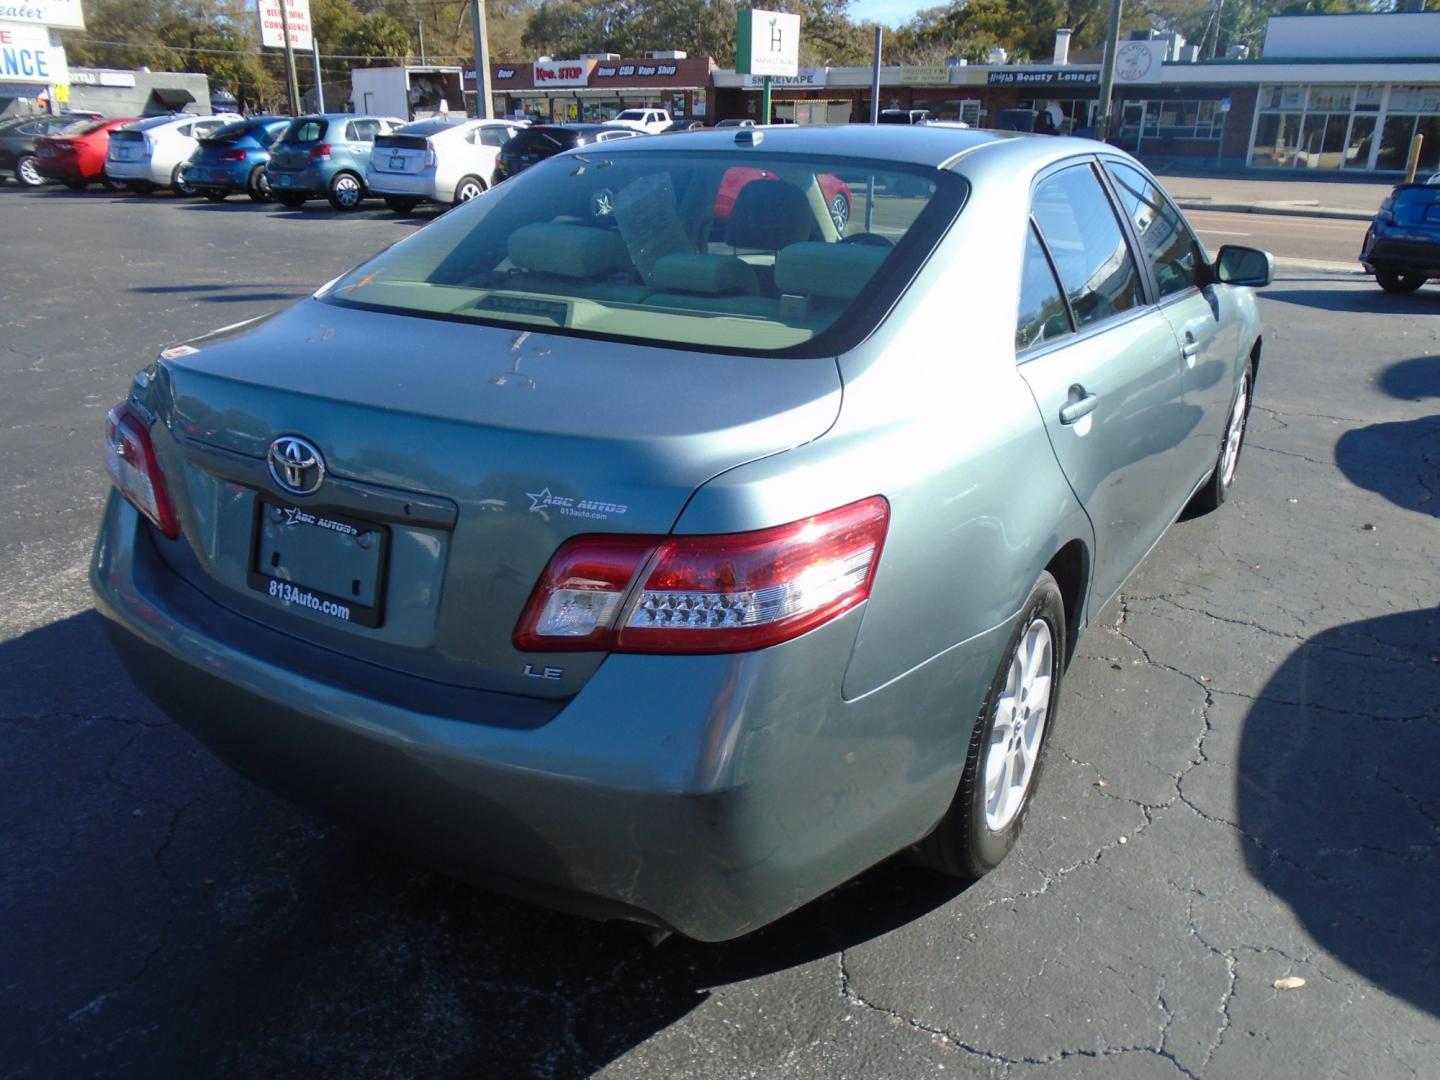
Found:
[[[870,596],[890,504],[720,536],[577,536],[516,626],[530,652],[742,652],[796,638]]]

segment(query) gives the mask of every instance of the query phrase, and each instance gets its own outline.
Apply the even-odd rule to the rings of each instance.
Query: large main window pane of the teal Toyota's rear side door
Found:
[[[1041,180],[1035,187],[1034,217],[1056,261],[1077,327],[1145,302],[1120,222],[1090,166],[1073,166]]]

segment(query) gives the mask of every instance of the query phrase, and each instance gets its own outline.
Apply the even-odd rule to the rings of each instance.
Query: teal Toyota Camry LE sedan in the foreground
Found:
[[[582,147],[144,367],[96,605],[216,755],[488,887],[721,940],[973,878],[1231,491],[1272,272],[1083,140]]]

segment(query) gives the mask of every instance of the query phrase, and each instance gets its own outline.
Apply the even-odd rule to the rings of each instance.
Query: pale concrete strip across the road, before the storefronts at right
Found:
[[[1292,217],[1333,217],[1368,222],[1394,183],[1335,177],[1297,180],[1292,176],[1207,176],[1161,170],[1155,174],[1185,210],[1273,213]]]

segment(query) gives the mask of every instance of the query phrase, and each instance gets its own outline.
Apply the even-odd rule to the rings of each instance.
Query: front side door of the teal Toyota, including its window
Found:
[[[1159,184],[1125,161],[1107,158],[1104,168],[1149,264],[1184,363],[1185,405],[1195,425],[1181,446],[1181,480],[1194,485],[1214,467],[1230,418],[1238,321],[1224,318],[1221,291],[1207,281],[1205,249]]]

